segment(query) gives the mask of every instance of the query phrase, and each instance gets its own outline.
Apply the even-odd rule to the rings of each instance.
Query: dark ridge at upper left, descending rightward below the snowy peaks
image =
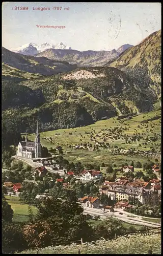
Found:
[[[77,67],[76,65],[70,65],[65,61],[50,60],[45,57],[34,57],[14,53],[6,48],[3,48],[2,50],[2,61],[5,65],[10,67],[45,76],[67,72]]]

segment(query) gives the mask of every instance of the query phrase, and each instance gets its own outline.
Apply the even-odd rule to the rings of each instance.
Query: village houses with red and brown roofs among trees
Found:
[[[143,178],[132,178],[134,166],[121,166],[117,168],[123,175],[118,178],[115,177],[111,181],[107,180],[103,174],[103,171],[107,169],[106,167],[100,167],[100,170],[84,169],[79,174],[74,174],[72,169],[67,171],[61,164],[57,164],[55,160],[50,158],[45,160],[39,163],[39,165],[44,163],[44,166],[41,165],[33,169],[32,180],[24,179],[23,181],[35,183],[37,186],[40,182],[39,180],[44,180],[45,177],[47,178],[51,174],[55,174],[57,177],[55,183],[60,183],[64,189],[72,188],[72,181],[73,184],[77,185],[93,182],[98,188],[100,197],[105,195],[110,199],[108,200],[110,205],[107,204],[107,200],[103,204],[99,197],[86,195],[83,198],[78,198],[78,202],[85,208],[101,208],[105,212],[112,212],[116,208],[124,210],[134,209],[138,204],[156,206],[160,201],[161,177],[151,179],[148,182],[145,182]],[[152,173],[159,173],[158,164],[152,166]],[[8,181],[4,182],[3,186],[7,188],[7,194],[10,196],[12,194],[19,196],[22,192],[21,183]],[[43,200],[47,196],[48,191],[46,190],[41,195],[36,195],[35,199]]]

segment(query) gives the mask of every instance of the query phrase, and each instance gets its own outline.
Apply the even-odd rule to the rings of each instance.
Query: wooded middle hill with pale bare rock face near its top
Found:
[[[32,133],[37,119],[42,130],[50,131],[153,109],[152,98],[135,88],[122,71],[110,67],[78,68],[68,73],[22,81],[18,89],[13,86],[15,93],[11,90],[11,95],[7,88],[3,90],[3,99],[14,98],[10,104],[3,100],[3,120],[8,132],[10,129],[23,132],[27,127]],[[32,91],[27,92],[28,88]],[[23,97],[26,95],[24,106],[22,92]],[[29,93],[39,93],[42,101],[36,100],[34,106]]]

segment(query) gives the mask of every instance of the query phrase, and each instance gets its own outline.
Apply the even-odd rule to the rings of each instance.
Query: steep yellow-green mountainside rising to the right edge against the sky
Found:
[[[161,30],[127,49],[108,66],[124,71],[135,84],[156,99],[161,92]]]

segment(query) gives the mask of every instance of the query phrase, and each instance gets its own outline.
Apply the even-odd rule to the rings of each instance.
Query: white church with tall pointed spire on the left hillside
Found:
[[[25,141],[20,141],[18,144],[18,150],[16,152],[16,155],[25,158],[41,158],[41,142],[40,134],[38,131],[38,122],[35,142],[28,141],[27,135],[25,135]]]

